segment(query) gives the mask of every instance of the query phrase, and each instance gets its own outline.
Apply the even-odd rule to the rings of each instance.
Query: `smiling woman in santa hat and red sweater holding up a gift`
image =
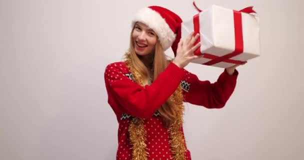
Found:
[[[191,159],[182,130],[183,102],[220,108],[234,90],[238,65],[226,68],[215,83],[183,69],[201,56],[193,54],[199,35],[179,40],[181,22],[160,6],[140,9],[125,61],[105,69],[108,103],[119,123],[116,159]],[[173,60],[164,54],[169,47]]]

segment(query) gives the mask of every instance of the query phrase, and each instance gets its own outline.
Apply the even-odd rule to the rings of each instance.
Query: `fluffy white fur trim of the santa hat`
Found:
[[[139,9],[132,20],[132,25],[134,25],[136,21],[148,25],[155,31],[163,50],[169,48],[174,42],[176,34],[174,34],[166,21],[155,10],[149,7]]]

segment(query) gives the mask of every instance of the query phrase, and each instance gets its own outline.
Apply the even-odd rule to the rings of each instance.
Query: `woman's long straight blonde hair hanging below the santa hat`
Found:
[[[134,30],[134,26],[132,28],[130,34],[130,46],[129,46],[129,53],[132,59],[132,64],[134,68],[137,69],[139,74],[141,75],[141,80],[143,84],[148,84],[148,77],[150,77],[150,73],[148,68],[143,64],[143,62],[137,56],[135,49],[134,49],[134,42],[132,40],[132,32]],[[152,67],[152,74],[153,80],[158,77],[158,75],[168,66],[169,60],[166,58],[166,55],[160,45],[159,40],[157,39],[155,47],[150,54],[154,54],[153,56],[153,67]],[[157,110],[162,117],[165,127],[169,127],[176,118],[176,109],[178,106],[172,102],[170,99],[167,99],[164,104],[162,104]]]

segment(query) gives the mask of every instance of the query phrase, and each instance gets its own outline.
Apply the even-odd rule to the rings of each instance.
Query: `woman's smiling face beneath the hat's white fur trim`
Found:
[[[136,54],[145,56],[152,52],[157,36],[147,25],[142,22],[136,22],[132,31],[132,40]]]

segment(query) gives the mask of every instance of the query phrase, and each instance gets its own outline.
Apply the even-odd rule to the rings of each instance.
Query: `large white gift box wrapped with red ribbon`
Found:
[[[200,34],[194,54],[202,58],[191,62],[226,68],[260,55],[259,23],[252,7],[240,11],[211,5],[181,23],[181,37]]]

